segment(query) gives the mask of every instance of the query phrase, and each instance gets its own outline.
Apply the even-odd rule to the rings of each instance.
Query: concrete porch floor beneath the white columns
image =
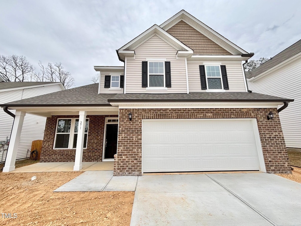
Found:
[[[15,172],[58,172],[73,171],[74,162],[39,162],[32,165],[23,166],[11,171]],[[114,162],[82,162],[80,171],[113,170]]]

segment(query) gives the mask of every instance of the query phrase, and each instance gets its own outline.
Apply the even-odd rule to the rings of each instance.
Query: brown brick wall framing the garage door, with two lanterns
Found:
[[[268,112],[274,113],[267,120]],[[129,122],[128,113],[132,112]],[[114,175],[141,175],[142,119],[257,118],[261,146],[268,173],[291,173],[276,108],[214,109],[119,109],[118,149]]]

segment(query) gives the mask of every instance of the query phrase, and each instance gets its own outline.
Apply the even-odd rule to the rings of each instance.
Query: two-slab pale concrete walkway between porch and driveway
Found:
[[[64,191],[135,191],[138,176],[113,177],[113,171],[85,171],[54,190]]]

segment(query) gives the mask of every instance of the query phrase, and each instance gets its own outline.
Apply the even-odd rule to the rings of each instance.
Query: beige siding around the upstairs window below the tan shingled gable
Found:
[[[199,65],[203,65],[202,61],[187,61],[188,72],[188,86],[189,92],[206,92],[201,89],[200,81],[200,68]],[[206,61],[206,65],[211,65],[209,61]],[[216,64],[214,64],[216,65]],[[241,61],[224,61],[220,65],[226,66],[227,78],[229,84],[229,90],[226,92],[246,92],[244,84],[244,74],[241,68]],[[208,84],[207,84],[208,88]],[[222,88],[223,89],[223,88]]]

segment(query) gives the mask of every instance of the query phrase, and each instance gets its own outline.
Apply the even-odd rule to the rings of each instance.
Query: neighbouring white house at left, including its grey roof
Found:
[[[1,79],[1,78],[0,78]],[[33,96],[53,93],[64,90],[60,82],[0,82],[0,104],[22,100]],[[11,112],[15,112],[11,110]],[[0,109],[0,141],[6,143],[10,139],[14,118]],[[46,118],[38,115],[26,114],[24,118],[20,142],[16,159],[25,159],[29,154],[33,140],[43,140]],[[7,147],[7,146],[5,146]],[[5,160],[6,151],[3,147],[0,152],[0,160]],[[2,157],[3,156],[3,157]]]

